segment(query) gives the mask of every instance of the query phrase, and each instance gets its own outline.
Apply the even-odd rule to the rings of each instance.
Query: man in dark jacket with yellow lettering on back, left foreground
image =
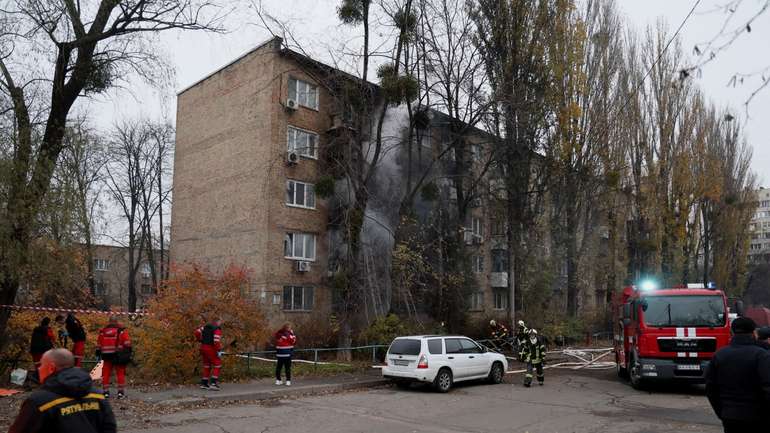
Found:
[[[115,416],[104,396],[92,389],[91,376],[75,368],[67,349],[43,355],[43,386],[22,404],[8,433],[114,433]]]

